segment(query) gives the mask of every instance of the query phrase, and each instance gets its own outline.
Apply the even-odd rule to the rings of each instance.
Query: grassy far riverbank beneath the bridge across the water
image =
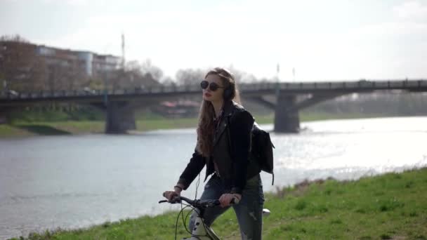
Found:
[[[380,114],[342,113],[327,114],[323,112],[302,112],[301,121],[320,121],[327,119],[361,119],[382,116]],[[258,124],[272,124],[274,115],[255,115]],[[136,131],[157,129],[195,128],[197,118],[168,119],[162,116],[139,117]],[[86,133],[103,133],[105,122],[102,119],[90,121],[14,121],[13,124],[0,124],[0,138],[26,137],[34,135],[75,135]]]

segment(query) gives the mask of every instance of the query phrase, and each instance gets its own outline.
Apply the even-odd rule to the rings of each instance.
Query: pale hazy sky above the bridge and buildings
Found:
[[[280,81],[427,79],[427,0],[0,0],[0,35],[121,55],[122,33],[127,61],[171,78],[220,66]]]

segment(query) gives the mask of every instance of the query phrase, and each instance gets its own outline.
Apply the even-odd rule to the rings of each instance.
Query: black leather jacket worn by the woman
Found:
[[[225,102],[223,110],[223,118],[213,139],[211,157],[204,157],[195,149],[190,163],[178,180],[184,189],[190,186],[205,164],[206,181],[215,171],[213,161],[216,161],[225,188],[231,193],[242,194],[246,180],[261,171],[256,161],[250,161],[249,158],[254,117],[233,101]]]

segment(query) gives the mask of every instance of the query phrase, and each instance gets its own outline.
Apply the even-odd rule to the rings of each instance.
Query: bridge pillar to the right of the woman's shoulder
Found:
[[[298,133],[299,114],[296,108],[296,95],[279,93],[275,109],[275,132]]]

